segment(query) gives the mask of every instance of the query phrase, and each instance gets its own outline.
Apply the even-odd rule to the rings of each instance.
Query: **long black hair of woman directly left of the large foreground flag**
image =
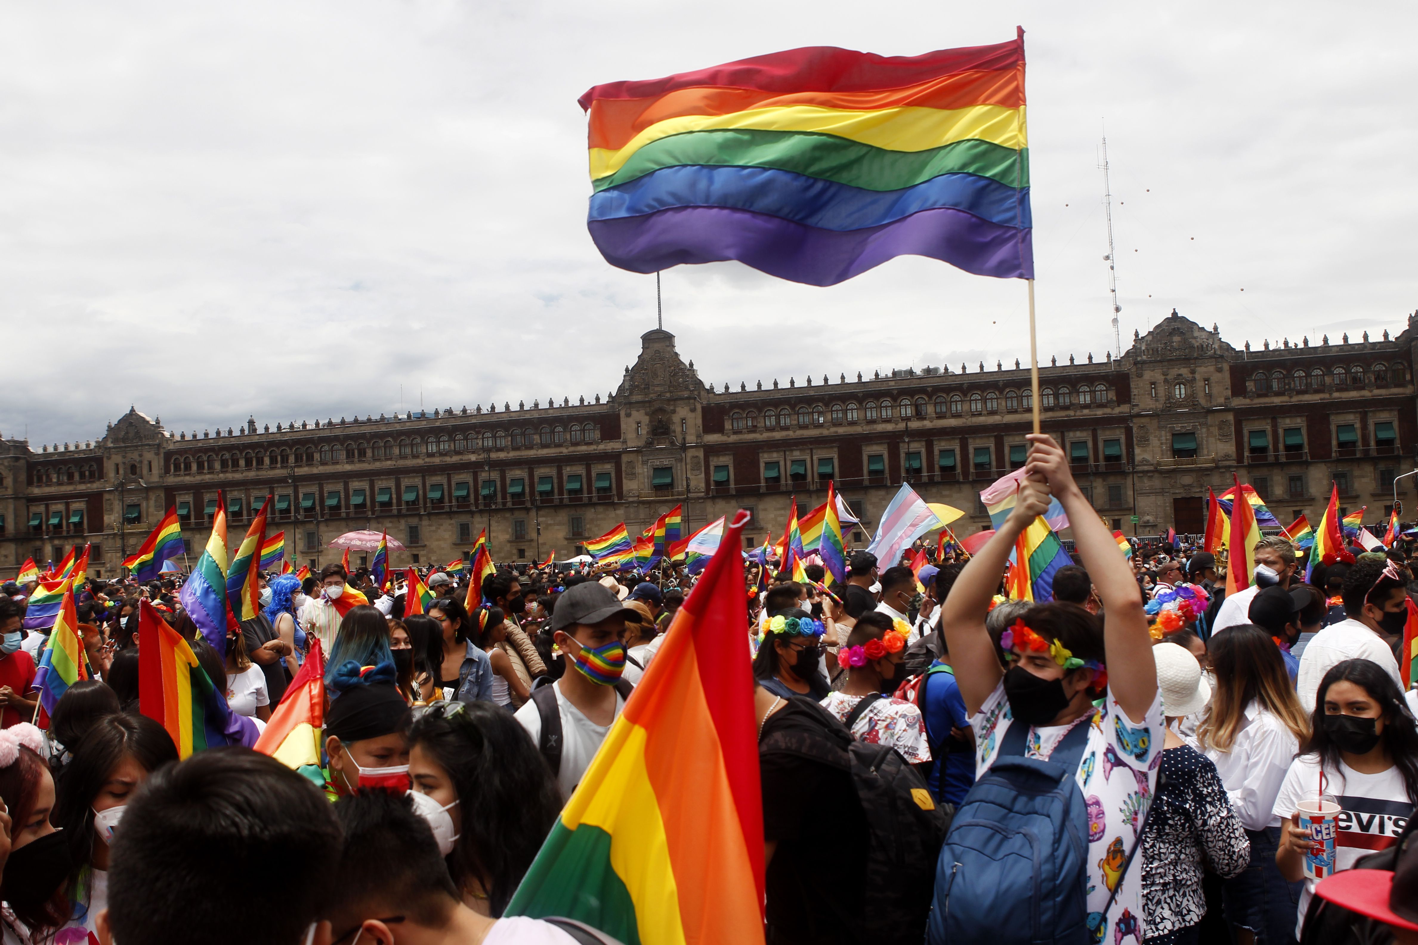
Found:
[[[448,772],[462,810],[448,873],[459,891],[485,878],[496,918],[562,813],[562,792],[510,713],[492,703],[458,706],[451,715],[435,706],[415,718],[408,747],[421,747]]]

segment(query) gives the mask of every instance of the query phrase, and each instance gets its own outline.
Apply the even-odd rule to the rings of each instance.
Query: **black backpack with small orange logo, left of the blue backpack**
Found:
[[[847,717],[847,728],[882,696],[865,696]],[[827,710],[824,721],[839,724]],[[797,748],[795,732],[774,732],[764,747]],[[774,742],[781,742],[774,745]],[[852,738],[848,747],[852,786],[866,815],[866,884],[861,897],[862,929],[872,945],[919,945],[934,893],[936,859],[950,829],[950,812],[939,806],[926,781],[891,745]]]

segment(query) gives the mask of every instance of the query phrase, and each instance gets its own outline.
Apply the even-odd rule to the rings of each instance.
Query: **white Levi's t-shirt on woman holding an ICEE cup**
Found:
[[[1300,800],[1314,799],[1319,792],[1319,757],[1300,755],[1290,762],[1280,793],[1275,798],[1275,816],[1289,820]],[[1360,774],[1343,761],[1339,772],[1326,766],[1324,793],[1339,800],[1341,808],[1339,833],[1334,837],[1336,873],[1353,868],[1361,856],[1392,844],[1414,813],[1402,772],[1397,765],[1377,775]],[[1295,924],[1296,938],[1305,925],[1305,910],[1310,907],[1314,884],[1316,880],[1305,880],[1299,919]]]

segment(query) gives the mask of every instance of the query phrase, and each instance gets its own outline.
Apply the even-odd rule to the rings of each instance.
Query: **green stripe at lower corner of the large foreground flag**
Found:
[[[635,904],[611,867],[611,834],[586,823],[569,830],[556,822],[505,915],[574,918],[640,945]]]

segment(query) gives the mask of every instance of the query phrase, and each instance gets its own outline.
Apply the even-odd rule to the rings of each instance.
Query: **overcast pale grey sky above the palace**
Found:
[[[1157,9],[1167,7],[1167,9]],[[1039,356],[1173,307],[1249,339],[1418,306],[1409,3],[9,3],[0,432],[560,401],[620,383],[654,276],[586,231],[577,96],[801,45],[1027,31]],[[664,275],[706,383],[1028,357],[1025,286],[899,258],[830,289]],[[1027,361],[1025,361],[1027,363]]]

